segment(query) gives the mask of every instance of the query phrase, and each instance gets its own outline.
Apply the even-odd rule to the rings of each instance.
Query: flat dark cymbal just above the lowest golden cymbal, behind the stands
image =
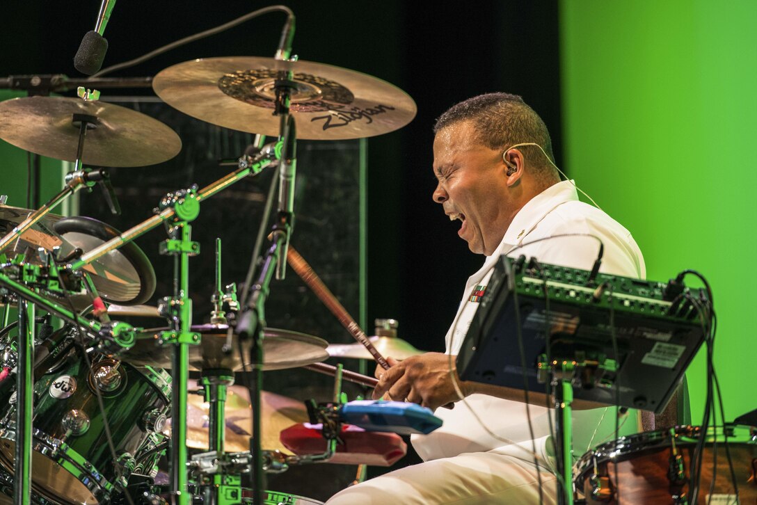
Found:
[[[242,361],[238,351],[238,336],[232,336],[232,352],[223,352],[226,344],[226,325],[192,326],[193,332],[201,333],[201,343],[189,346],[189,368],[230,369],[241,371]],[[137,335],[134,347],[121,353],[127,363],[134,365],[151,365],[163,368],[171,367],[171,346],[158,344],[160,332],[166,328],[146,329]],[[291,332],[286,329],[266,328],[263,330],[263,364],[264,370],[294,368],[326,360],[328,342],[322,338],[304,333]],[[250,369],[250,342],[244,342],[245,365]]]

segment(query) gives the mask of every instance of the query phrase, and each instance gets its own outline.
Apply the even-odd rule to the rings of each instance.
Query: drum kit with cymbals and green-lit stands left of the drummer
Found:
[[[84,88],[73,98],[0,103],[0,138],[74,163],[64,189],[38,209],[0,204],[0,400],[8,404],[0,418],[0,501],[316,503],[265,491],[265,474],[327,460],[388,465],[406,450],[396,433],[371,436],[339,418],[346,402],[341,380],[370,386],[375,379],[321,362],[332,353],[383,360],[376,347],[398,357],[420,351],[396,337],[393,320],[378,323],[382,335],[369,340],[325,287],[322,296],[341,307],[340,320],[360,335],[356,344],[329,346],[313,335],[265,325],[269,283],[297,254],[288,246],[296,139],[391,132],[413,119],[416,105],[375,77],[296,59],[188,61],[158,73],[152,84],[173,108],[256,133],[259,142],[232,173],[202,189],[170,192],[156,202],[151,218],[126,232],[51,210],[80,189],[101,185],[117,211],[107,171],[89,166],[167,161],[182,148],[176,132]],[[278,140],[263,145],[263,136]],[[188,258],[199,252],[192,220],[205,198],[269,166],[278,166],[282,179],[279,214],[257,278],[242,304],[217,278],[211,320],[196,324],[188,297]],[[174,290],[150,307],[144,304],[154,294],[155,272],[133,241],[160,224],[168,234],[160,253],[174,257]],[[220,242],[217,253],[220,272]],[[297,257],[311,281],[320,282]],[[11,309],[17,322],[11,323]],[[122,322],[125,317],[167,323],[142,328]],[[263,370],[303,366],[335,377],[334,402],[311,401],[306,408],[260,388]],[[252,371],[249,390],[234,385],[242,370]],[[199,379],[190,380],[190,371]],[[298,425],[308,420],[320,425]],[[284,444],[282,434],[294,427]],[[354,450],[338,440],[350,441]],[[190,449],[205,452],[190,460]],[[164,456],[168,479],[159,469]],[[243,474],[250,475],[251,489],[241,487]]]

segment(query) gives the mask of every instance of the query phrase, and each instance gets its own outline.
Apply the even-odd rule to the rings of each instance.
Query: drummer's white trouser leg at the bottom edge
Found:
[[[389,472],[335,494],[328,505],[556,503],[556,478],[534,461],[495,452],[466,453]]]

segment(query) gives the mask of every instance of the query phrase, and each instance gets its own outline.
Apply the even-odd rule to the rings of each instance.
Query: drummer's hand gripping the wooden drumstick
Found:
[[[464,383],[457,376],[454,356],[425,353],[407,360],[390,360],[389,363],[391,368],[378,378],[378,384],[373,390],[374,399],[388,397],[390,400],[410,401],[435,410],[462,399],[455,390],[453,380],[457,382],[463,395],[466,395]]]

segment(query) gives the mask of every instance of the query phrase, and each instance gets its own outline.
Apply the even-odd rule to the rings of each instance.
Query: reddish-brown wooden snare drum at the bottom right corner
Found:
[[[743,426],[731,429],[728,447],[739,487],[738,503],[757,503],[757,434]],[[691,457],[701,436],[699,426],[678,426],[602,444],[578,460],[575,487],[584,492],[586,503],[616,503],[616,491],[620,491],[622,503],[684,503],[675,497],[688,494]],[[724,436],[705,436],[697,502],[735,504]]]

